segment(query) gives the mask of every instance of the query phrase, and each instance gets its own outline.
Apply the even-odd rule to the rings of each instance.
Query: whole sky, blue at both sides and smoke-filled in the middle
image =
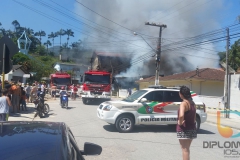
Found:
[[[11,23],[17,20],[22,27],[34,32],[43,30],[46,34],[72,29],[74,37],[70,37],[70,44],[80,39],[92,49],[132,53],[135,59],[157,46],[159,28],[146,26],[146,21],[167,25],[162,32],[162,49],[169,50],[168,45],[174,48],[174,42],[236,24],[240,15],[240,0],[0,0],[0,6],[0,28],[14,30]],[[237,25],[230,28],[234,35],[239,31]],[[220,35],[226,35],[225,30]],[[218,37],[204,38],[208,41]],[[55,45],[59,44],[58,39]],[[47,36],[42,37],[42,43],[47,40]],[[62,43],[66,40],[63,37]],[[188,57],[196,61],[194,67],[216,66],[216,53],[224,51],[225,46],[223,40],[200,45],[198,50],[175,49],[166,54]],[[210,51],[215,55],[207,53]]]

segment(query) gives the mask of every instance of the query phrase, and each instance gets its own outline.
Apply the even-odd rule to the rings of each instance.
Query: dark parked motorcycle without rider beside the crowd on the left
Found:
[[[35,104],[36,107],[36,114],[34,115],[34,118],[39,116],[40,118],[43,118],[43,116],[47,115],[49,112],[49,105],[47,103],[44,103],[44,96],[40,95],[38,96],[33,103]]]

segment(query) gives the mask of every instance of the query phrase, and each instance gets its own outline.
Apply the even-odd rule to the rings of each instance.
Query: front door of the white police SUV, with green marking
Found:
[[[161,124],[161,120],[165,118],[165,114],[159,112],[157,107],[163,99],[163,91],[156,90],[149,92],[143,98],[146,98],[147,102],[139,102],[142,106],[138,109],[139,124]]]

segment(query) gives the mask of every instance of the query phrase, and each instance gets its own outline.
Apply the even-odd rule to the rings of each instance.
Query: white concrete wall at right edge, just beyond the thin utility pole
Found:
[[[240,110],[240,74],[230,75],[230,109]]]

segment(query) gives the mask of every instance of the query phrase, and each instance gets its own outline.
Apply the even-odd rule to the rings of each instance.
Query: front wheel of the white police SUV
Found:
[[[121,133],[130,132],[133,129],[133,118],[128,115],[120,116],[116,121],[116,128]]]

